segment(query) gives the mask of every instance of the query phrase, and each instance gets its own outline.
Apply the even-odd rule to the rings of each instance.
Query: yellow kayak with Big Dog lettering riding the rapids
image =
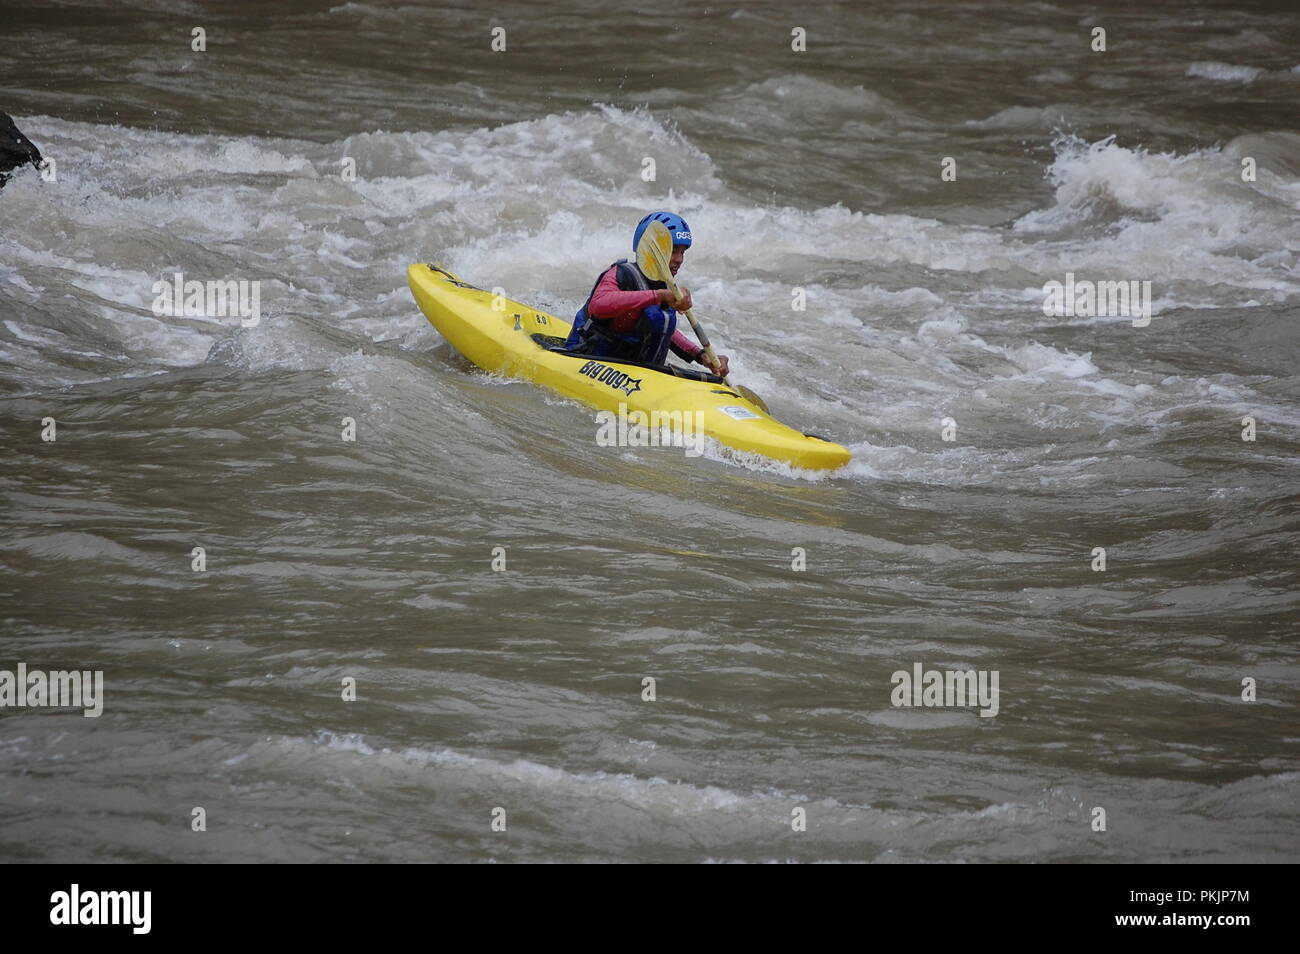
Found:
[[[495,299],[437,265],[416,264],[407,281],[420,311],[462,355],[486,372],[524,378],[602,411],[702,412],[706,437],[792,467],[831,471],[846,447],[803,434],[705,372],[638,364],[563,350],[569,322],[510,299]],[[620,408],[621,406],[621,408]]]

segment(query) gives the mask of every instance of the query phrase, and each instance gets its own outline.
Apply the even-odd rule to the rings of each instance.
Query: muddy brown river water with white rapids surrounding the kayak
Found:
[[[0,690],[103,672],[0,859],[1300,860],[1296,6],[568,9],[0,4]],[[656,208],[846,468],[598,446],[406,285],[568,318]]]

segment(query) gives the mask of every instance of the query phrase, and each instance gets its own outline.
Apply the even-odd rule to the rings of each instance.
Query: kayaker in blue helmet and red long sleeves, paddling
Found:
[[[677,296],[667,282],[650,281],[636,261],[637,243],[651,221],[663,222],[672,234],[668,268],[677,274],[690,248],[690,226],[671,212],[651,212],[637,225],[632,237],[632,261],[619,259],[592,286],[586,302],[573,317],[573,330],[564,342],[567,351],[594,357],[621,357],[645,364],[664,364],[668,350],[684,361],[703,364],[705,350],[677,330],[677,312],[692,307],[690,291],[677,286]],[[728,370],[727,355],[719,355],[718,373]]]

